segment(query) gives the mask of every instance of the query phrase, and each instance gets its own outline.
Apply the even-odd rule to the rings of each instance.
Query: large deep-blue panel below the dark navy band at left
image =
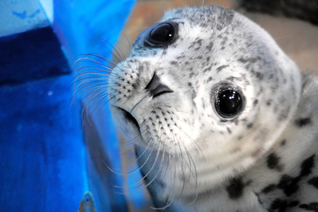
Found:
[[[69,76],[0,87],[0,211],[76,212],[84,187]]]

